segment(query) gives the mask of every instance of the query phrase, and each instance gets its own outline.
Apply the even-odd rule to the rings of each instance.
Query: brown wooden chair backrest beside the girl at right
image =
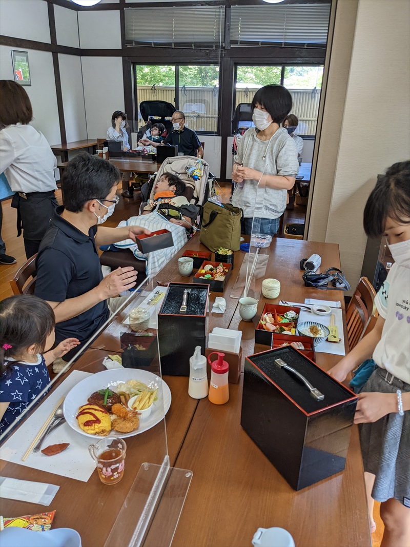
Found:
[[[362,339],[374,315],[374,296],[376,296],[376,291],[367,277],[361,277],[346,310],[350,351]]]

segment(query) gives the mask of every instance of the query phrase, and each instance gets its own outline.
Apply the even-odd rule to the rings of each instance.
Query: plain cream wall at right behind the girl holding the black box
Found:
[[[359,2],[326,231],[326,241],[339,243],[352,287],[359,281],[367,241],[362,215],[368,194],[378,173],[408,159],[409,125],[403,120],[410,115],[409,20],[408,2]],[[358,120],[366,120],[365,134],[358,131]]]

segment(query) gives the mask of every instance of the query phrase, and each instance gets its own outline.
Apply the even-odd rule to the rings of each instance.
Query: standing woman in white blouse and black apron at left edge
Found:
[[[58,203],[54,169],[56,156],[42,133],[30,124],[30,98],[13,80],[0,80],[0,173],[15,192],[17,237],[23,233],[26,257],[38,252]]]

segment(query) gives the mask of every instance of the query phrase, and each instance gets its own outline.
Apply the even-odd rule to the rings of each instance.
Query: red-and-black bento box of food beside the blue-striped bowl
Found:
[[[255,330],[256,344],[272,346],[272,334],[296,334],[296,324],[300,308],[280,306],[279,304],[265,304],[261,318]]]

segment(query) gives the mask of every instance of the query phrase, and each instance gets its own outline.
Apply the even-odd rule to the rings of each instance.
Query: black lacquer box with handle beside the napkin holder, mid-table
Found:
[[[186,312],[181,313],[185,289],[190,289]],[[189,359],[196,346],[204,355],[209,285],[169,283],[158,313],[158,341],[162,374],[189,376]]]

